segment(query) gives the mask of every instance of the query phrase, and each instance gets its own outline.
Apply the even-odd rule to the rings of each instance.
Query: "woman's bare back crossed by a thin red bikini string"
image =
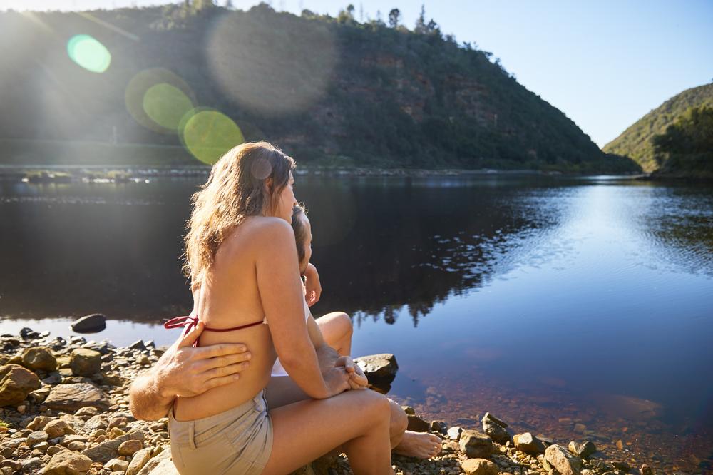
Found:
[[[206,327],[222,329],[259,322],[265,317],[257,283],[257,259],[270,247],[270,228],[279,218],[247,218],[221,243],[215,260],[194,290],[197,316]],[[295,278],[299,273],[295,270]],[[210,389],[196,397],[179,398],[175,419],[209,417],[255,397],[270,381],[277,354],[267,325],[230,332],[203,332],[199,344],[244,343],[250,350],[250,366],[240,380]]]

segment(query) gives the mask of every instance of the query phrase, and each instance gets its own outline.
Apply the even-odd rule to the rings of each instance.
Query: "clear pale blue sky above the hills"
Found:
[[[84,10],[167,3],[157,0],[0,0],[0,9]],[[225,0],[217,0],[224,4]],[[248,9],[258,1],[233,0]],[[336,16],[349,0],[272,0]],[[353,1],[386,19],[401,10],[411,29],[426,5],[444,33],[501,58],[518,81],[563,111],[600,146],[687,88],[713,80],[713,1]]]

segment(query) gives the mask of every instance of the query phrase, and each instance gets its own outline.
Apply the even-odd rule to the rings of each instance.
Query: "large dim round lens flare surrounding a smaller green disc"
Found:
[[[196,103],[190,86],[165,68],[145,69],[131,78],[124,101],[135,121],[166,134],[178,133],[181,119]]]

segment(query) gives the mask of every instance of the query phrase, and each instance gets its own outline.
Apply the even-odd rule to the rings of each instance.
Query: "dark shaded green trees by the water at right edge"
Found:
[[[651,140],[660,175],[713,178],[713,108],[692,107]]]

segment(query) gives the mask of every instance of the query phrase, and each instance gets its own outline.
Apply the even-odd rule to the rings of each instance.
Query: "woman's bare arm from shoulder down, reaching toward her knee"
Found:
[[[324,399],[349,389],[341,367],[322,376],[317,354],[304,322],[304,295],[299,280],[297,250],[289,223],[276,218],[257,237],[255,267],[262,308],[282,366],[310,397]]]

